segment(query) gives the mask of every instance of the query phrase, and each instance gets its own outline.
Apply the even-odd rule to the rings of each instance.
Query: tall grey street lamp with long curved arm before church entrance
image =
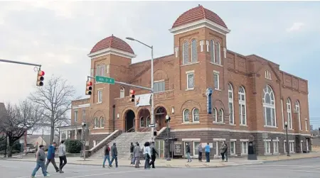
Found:
[[[139,40],[127,37],[127,40],[137,41],[151,49],[151,124],[154,124],[154,47],[146,45]],[[151,141],[154,141],[154,127],[151,127]]]

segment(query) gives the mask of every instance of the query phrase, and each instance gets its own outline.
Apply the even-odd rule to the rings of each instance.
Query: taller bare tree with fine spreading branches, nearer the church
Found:
[[[52,76],[43,87],[38,87],[29,99],[43,109],[43,126],[50,127],[50,143],[55,135],[55,125],[59,121],[68,121],[65,113],[71,109],[75,89],[66,79]]]

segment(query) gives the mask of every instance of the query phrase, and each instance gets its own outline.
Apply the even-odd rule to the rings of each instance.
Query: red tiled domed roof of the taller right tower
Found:
[[[199,4],[199,6],[182,13],[176,21],[172,28],[176,28],[177,26],[183,26],[187,23],[192,23],[195,21],[201,21],[203,19],[207,19],[209,21],[213,21],[213,23],[217,23],[224,28],[228,28],[223,20],[213,11],[210,11]]]

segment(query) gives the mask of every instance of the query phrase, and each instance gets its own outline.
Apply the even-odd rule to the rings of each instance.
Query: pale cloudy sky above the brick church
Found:
[[[68,79],[84,96],[92,47],[110,35],[154,45],[154,56],[174,53],[169,32],[181,13],[203,5],[231,32],[227,48],[260,55],[309,80],[311,124],[320,126],[320,2],[301,1],[0,1],[0,59],[41,64],[46,79]],[[150,51],[128,41],[137,57]],[[0,102],[17,103],[36,89],[32,66],[0,62]],[[45,82],[46,84],[46,82]]]

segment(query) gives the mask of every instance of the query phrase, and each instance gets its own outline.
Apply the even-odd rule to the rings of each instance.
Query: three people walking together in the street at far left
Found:
[[[60,159],[60,165],[59,168],[55,164],[55,142],[52,143],[52,145],[48,148],[48,153],[46,157],[46,153],[43,150],[43,145],[37,145],[38,147],[36,152],[36,168],[33,169],[33,172],[31,174],[31,178],[35,178],[36,172],[38,172],[38,169],[42,169],[42,173],[44,177],[49,177],[49,174],[47,172],[48,165],[50,162],[52,163],[53,167],[55,168],[56,172],[63,173],[63,167],[67,164],[67,157],[66,157],[66,151],[65,151],[65,141],[62,140],[61,144],[58,147],[58,156]],[[47,161],[46,161],[47,158]]]

